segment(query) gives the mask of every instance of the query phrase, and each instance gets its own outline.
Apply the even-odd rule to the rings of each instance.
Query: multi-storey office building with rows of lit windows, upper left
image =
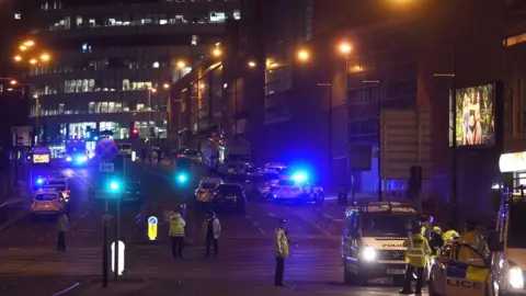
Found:
[[[239,2],[43,2],[41,25],[30,37],[52,58],[27,72],[30,114],[41,137],[82,138],[91,127],[125,139],[134,126],[140,137],[165,138],[164,86],[222,41],[226,22],[241,18]]]

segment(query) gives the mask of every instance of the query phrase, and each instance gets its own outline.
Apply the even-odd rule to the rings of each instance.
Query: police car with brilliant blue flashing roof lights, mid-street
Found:
[[[274,201],[300,201],[304,203],[323,203],[325,200],[323,189],[311,184],[305,173],[296,173],[272,184],[270,196]]]

